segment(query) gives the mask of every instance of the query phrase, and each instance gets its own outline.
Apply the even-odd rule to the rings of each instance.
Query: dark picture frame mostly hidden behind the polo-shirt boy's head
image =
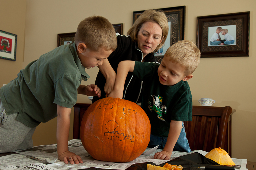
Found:
[[[119,33],[120,35],[123,34],[123,23],[112,25],[114,26],[116,33]],[[57,47],[71,42],[75,42],[75,32],[57,34]]]

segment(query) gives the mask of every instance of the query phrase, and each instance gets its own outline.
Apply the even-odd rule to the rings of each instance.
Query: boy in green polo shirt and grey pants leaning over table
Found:
[[[89,75],[85,68],[102,65],[117,47],[113,25],[104,17],[92,16],[78,25],[75,43],[43,54],[0,89],[0,153],[33,147],[37,125],[57,116],[59,159],[83,163],[68,151],[70,113],[77,94],[101,96],[96,85],[81,85]]]

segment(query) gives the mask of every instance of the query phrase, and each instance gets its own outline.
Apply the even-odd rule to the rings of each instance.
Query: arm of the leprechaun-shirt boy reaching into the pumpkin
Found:
[[[114,90],[108,95],[108,97],[123,98],[124,83],[129,72],[133,72],[135,61],[121,61],[117,67],[116,81]]]

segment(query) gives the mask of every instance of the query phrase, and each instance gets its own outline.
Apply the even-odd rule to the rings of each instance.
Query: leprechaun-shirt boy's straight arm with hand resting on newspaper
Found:
[[[182,128],[182,121],[171,120],[170,129],[169,129],[165,147],[161,152],[157,152],[154,155],[154,159],[165,159],[165,160],[170,159],[175,143],[177,142],[180,136],[181,128]]]

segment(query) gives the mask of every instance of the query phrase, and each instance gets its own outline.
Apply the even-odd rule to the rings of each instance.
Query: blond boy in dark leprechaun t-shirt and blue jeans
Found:
[[[109,97],[122,98],[128,72],[143,80],[142,109],[151,124],[148,147],[163,149],[155,159],[170,159],[172,151],[191,152],[183,121],[192,121],[192,96],[187,80],[200,62],[200,50],[191,41],[178,41],[168,48],[161,64],[122,61]]]

